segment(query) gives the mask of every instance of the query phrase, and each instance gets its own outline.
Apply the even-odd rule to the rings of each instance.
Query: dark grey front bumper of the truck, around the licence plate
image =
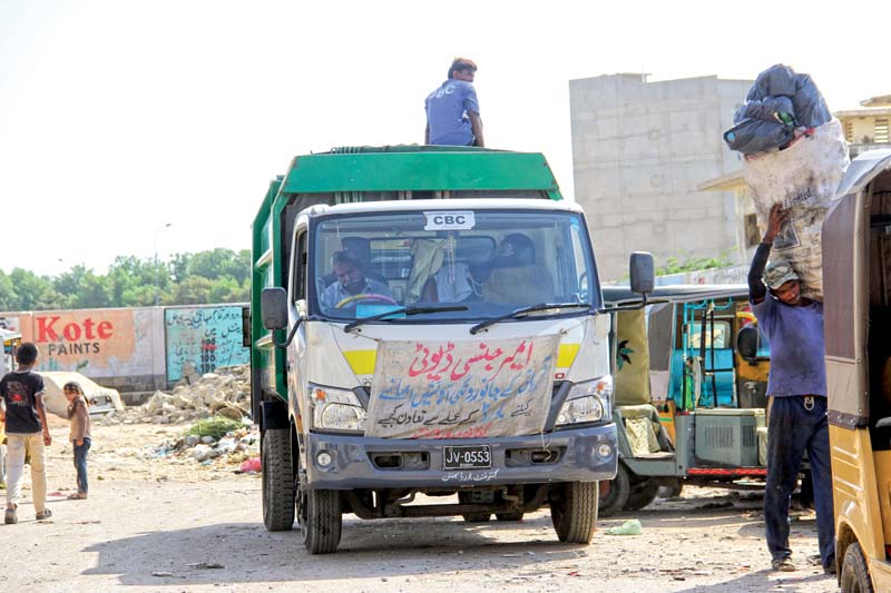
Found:
[[[491,467],[444,470],[447,446],[489,445]],[[394,439],[310,433],[303,443],[312,490],[432,488],[616,476],[616,425],[487,439]],[[323,464],[324,463],[324,464]]]

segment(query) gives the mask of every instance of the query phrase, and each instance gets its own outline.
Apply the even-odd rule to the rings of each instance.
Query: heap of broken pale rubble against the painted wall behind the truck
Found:
[[[155,392],[141,406],[112,413],[109,424],[178,424],[213,416],[233,421],[251,417],[249,368],[247,365],[218,367],[194,383],[180,382],[172,393]]]

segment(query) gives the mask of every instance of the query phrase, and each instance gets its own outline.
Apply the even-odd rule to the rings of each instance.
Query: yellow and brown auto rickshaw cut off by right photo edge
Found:
[[[851,162],[822,243],[839,583],[891,591],[891,150]]]

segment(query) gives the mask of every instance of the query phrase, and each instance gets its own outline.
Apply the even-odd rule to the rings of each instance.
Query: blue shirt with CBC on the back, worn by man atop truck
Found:
[[[473,144],[473,131],[467,113],[479,113],[480,105],[472,83],[450,78],[427,97],[424,109],[431,145]]]

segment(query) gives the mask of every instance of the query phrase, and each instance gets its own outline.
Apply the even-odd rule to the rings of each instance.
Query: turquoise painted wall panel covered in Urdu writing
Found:
[[[179,380],[186,365],[204,374],[251,362],[242,345],[241,306],[165,309],[164,323],[168,382]]]

